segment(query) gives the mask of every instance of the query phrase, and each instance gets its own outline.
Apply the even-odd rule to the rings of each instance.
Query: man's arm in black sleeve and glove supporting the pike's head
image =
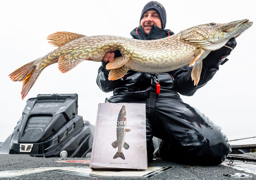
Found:
[[[171,72],[174,77],[174,85],[176,91],[181,95],[192,96],[197,89],[204,86],[214,74],[219,70],[219,65],[224,64],[230,55],[230,52],[236,47],[235,38],[231,38],[225,46],[221,49],[217,49],[209,53],[209,55],[203,59],[203,67],[198,85],[194,86],[194,82],[191,79],[191,71],[193,67],[189,65],[182,67],[178,70]]]

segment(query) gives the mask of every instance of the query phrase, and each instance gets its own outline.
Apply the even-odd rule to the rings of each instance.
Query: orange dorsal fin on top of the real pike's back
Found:
[[[72,32],[55,32],[46,37],[46,39],[51,40],[48,41],[49,44],[53,46],[63,46],[64,44],[73,41],[78,38],[85,37],[85,35],[80,35]]]

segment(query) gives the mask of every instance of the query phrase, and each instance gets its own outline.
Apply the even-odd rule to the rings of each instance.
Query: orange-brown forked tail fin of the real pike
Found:
[[[41,58],[39,58],[41,59]],[[39,59],[29,62],[19,69],[15,70],[9,76],[13,81],[23,81],[22,90],[21,90],[21,99],[24,99],[28,94],[29,90],[34,85],[36,79],[40,75],[43,69],[36,69],[35,62]]]

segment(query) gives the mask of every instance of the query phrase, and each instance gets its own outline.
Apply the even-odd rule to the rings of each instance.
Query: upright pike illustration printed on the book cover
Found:
[[[124,153],[122,152],[123,147],[125,149],[129,149],[129,145],[125,143],[125,133],[131,131],[130,129],[125,129],[126,126],[126,111],[125,106],[122,106],[122,109],[119,112],[117,123],[116,123],[116,138],[117,140],[114,141],[111,145],[113,148],[118,147],[116,154],[114,155],[113,159],[122,158],[125,160]]]

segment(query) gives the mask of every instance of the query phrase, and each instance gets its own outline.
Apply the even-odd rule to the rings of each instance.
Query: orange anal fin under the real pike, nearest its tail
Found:
[[[69,70],[73,69],[74,67],[77,66],[77,64],[79,64],[80,62],[84,61],[84,60],[91,60],[89,59],[73,59],[73,58],[65,58],[62,55],[59,57],[58,60],[58,67],[59,70],[62,73],[66,73]]]

